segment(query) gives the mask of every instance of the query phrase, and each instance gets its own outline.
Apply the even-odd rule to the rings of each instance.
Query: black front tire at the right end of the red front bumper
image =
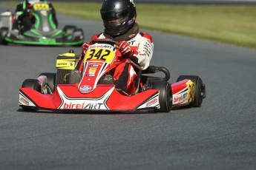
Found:
[[[170,112],[172,107],[172,90],[171,84],[166,81],[155,81],[153,89],[159,90],[159,103],[160,109],[156,109],[157,112]]]

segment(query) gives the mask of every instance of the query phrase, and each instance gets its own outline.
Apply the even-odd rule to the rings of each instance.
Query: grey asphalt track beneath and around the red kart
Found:
[[[0,12],[5,10],[0,7]],[[58,16],[88,41],[102,23]],[[55,72],[56,56],[79,47],[0,46],[0,169],[255,169],[256,50],[146,30],[151,64],[206,84],[200,108],[157,114],[23,112],[26,78]]]

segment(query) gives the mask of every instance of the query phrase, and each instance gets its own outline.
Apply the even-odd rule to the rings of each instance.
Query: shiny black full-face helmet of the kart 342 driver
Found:
[[[106,33],[122,35],[134,26],[136,7],[133,0],[104,0],[100,14]]]

